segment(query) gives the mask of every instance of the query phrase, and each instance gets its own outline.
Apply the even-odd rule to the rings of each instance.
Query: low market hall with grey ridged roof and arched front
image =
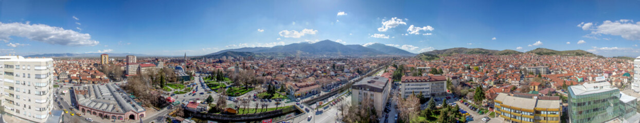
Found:
[[[113,83],[74,87],[73,92],[80,111],[88,115],[104,119],[138,120],[147,113],[145,108]]]

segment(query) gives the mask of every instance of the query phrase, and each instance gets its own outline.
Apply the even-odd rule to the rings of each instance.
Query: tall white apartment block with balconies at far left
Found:
[[[46,122],[53,108],[51,58],[0,56],[4,112],[31,122]]]

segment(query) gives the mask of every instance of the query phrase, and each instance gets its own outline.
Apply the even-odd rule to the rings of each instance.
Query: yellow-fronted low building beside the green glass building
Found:
[[[560,122],[562,101],[557,96],[499,93],[495,113],[506,122]]]

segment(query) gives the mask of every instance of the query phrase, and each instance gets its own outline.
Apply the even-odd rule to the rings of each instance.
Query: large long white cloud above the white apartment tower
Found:
[[[0,22],[0,41],[8,42],[10,36],[28,38],[55,45],[94,46],[99,41],[91,40],[91,35],[66,30],[62,27],[52,27],[45,24],[2,23]]]

